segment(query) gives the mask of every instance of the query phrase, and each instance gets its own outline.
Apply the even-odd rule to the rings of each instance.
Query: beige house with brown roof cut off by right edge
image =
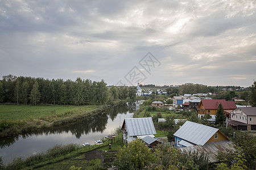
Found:
[[[256,107],[242,107],[230,113],[228,125],[237,130],[256,130]]]

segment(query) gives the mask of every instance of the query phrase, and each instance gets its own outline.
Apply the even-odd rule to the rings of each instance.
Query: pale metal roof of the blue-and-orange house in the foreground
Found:
[[[195,145],[205,145],[205,143],[218,131],[216,128],[186,121],[174,136],[191,142]]]

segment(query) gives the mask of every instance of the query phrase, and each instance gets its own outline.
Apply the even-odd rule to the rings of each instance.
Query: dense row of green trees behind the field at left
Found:
[[[0,103],[17,104],[106,104],[117,99],[134,99],[135,87],[106,87],[104,80],[44,79],[5,75],[0,80]]]

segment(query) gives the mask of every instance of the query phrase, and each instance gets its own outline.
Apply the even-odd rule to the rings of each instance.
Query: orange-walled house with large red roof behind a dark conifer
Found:
[[[210,114],[213,119],[216,119],[215,115],[220,104],[227,114],[237,108],[234,101],[226,101],[225,99],[202,99],[198,107],[198,116],[201,118],[205,114]]]

